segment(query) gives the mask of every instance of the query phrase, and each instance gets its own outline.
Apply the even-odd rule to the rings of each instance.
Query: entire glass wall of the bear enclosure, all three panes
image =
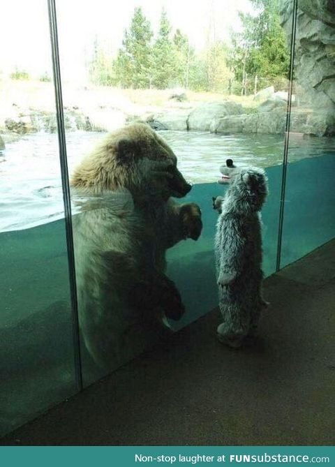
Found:
[[[227,159],[268,177],[265,276],[281,202],[281,267],[334,237],[334,11],[299,1],[285,136],[293,3],[57,2],[84,385],[218,305]],[[47,6],[5,15],[0,433],[77,390]]]

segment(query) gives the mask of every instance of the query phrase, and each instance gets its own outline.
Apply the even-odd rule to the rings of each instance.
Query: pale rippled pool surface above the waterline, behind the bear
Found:
[[[283,160],[279,135],[214,135],[164,131],[161,135],[178,157],[179,169],[193,184],[216,182],[226,158],[243,165],[269,167]],[[105,138],[105,133],[67,133],[68,167]],[[292,138],[290,161],[334,150],[334,139]],[[64,216],[57,134],[25,135],[0,152],[0,231],[34,227]]]

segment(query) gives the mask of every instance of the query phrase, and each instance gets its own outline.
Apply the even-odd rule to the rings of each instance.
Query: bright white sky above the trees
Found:
[[[206,42],[209,24],[216,38],[229,41],[230,28],[240,29],[237,11],[252,11],[249,0],[56,0],[56,5],[62,76],[73,81],[84,79],[95,36],[117,50],[136,6],[154,31],[165,8],[172,31],[181,29],[197,50]],[[51,74],[47,0],[2,0],[0,17],[0,71],[17,67],[35,77]]]

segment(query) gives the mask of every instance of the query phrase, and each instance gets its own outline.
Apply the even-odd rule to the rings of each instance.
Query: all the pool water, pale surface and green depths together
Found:
[[[197,202],[204,223],[198,242],[180,242],[168,251],[168,275],[186,306],[174,326],[179,329],[217,304],[213,251],[217,213],[211,197],[225,189],[216,183],[221,154],[223,161],[230,156],[241,163],[273,165],[266,169],[270,193],[262,218],[265,274],[274,272],[283,142],[277,137],[248,142],[246,137],[202,133],[163,136],[179,156],[181,171],[195,182],[183,202]],[[101,133],[68,135],[70,169],[100,138]],[[292,150],[298,161],[288,165],[282,266],[335,236],[335,152],[325,149],[321,140],[310,144],[311,151],[306,143]],[[29,135],[8,144],[1,158],[0,434],[77,392],[57,136]],[[82,370],[87,385],[95,377],[85,363]]]

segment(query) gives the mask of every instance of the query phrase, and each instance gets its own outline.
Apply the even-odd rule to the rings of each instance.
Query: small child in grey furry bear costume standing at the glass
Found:
[[[259,168],[222,165],[224,197],[213,198],[220,213],[216,225],[216,273],[223,323],[218,339],[233,348],[252,337],[262,308],[262,235],[260,209],[267,196],[267,178]]]

